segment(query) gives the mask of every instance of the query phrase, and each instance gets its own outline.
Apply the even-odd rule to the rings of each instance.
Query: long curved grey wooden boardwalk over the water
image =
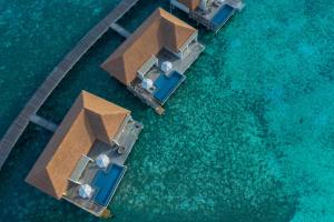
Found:
[[[24,129],[29,124],[31,117],[37,113],[37,111],[45,103],[47,98],[51,94],[60,81],[81,59],[81,57],[97,42],[97,40],[108,31],[110,26],[117,22],[139,0],[121,0],[105,19],[96,24],[75,46],[75,48],[63,58],[63,60],[53,69],[45,82],[38,88],[0,141],[0,169],[6,162],[10,151],[23,133]]]

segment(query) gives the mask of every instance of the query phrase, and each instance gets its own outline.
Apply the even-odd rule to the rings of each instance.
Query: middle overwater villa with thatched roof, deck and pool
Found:
[[[157,9],[101,67],[161,114],[204,50],[197,37],[196,29]]]

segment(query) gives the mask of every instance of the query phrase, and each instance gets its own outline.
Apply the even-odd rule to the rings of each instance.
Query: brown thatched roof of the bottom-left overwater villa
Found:
[[[96,140],[110,143],[129,113],[124,108],[82,91],[26,181],[61,199],[81,155],[88,154]]]

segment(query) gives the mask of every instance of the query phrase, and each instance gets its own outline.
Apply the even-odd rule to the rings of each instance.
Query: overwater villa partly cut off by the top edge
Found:
[[[242,0],[170,0],[171,9],[188,13],[190,19],[218,32],[236,11],[244,8]]]

